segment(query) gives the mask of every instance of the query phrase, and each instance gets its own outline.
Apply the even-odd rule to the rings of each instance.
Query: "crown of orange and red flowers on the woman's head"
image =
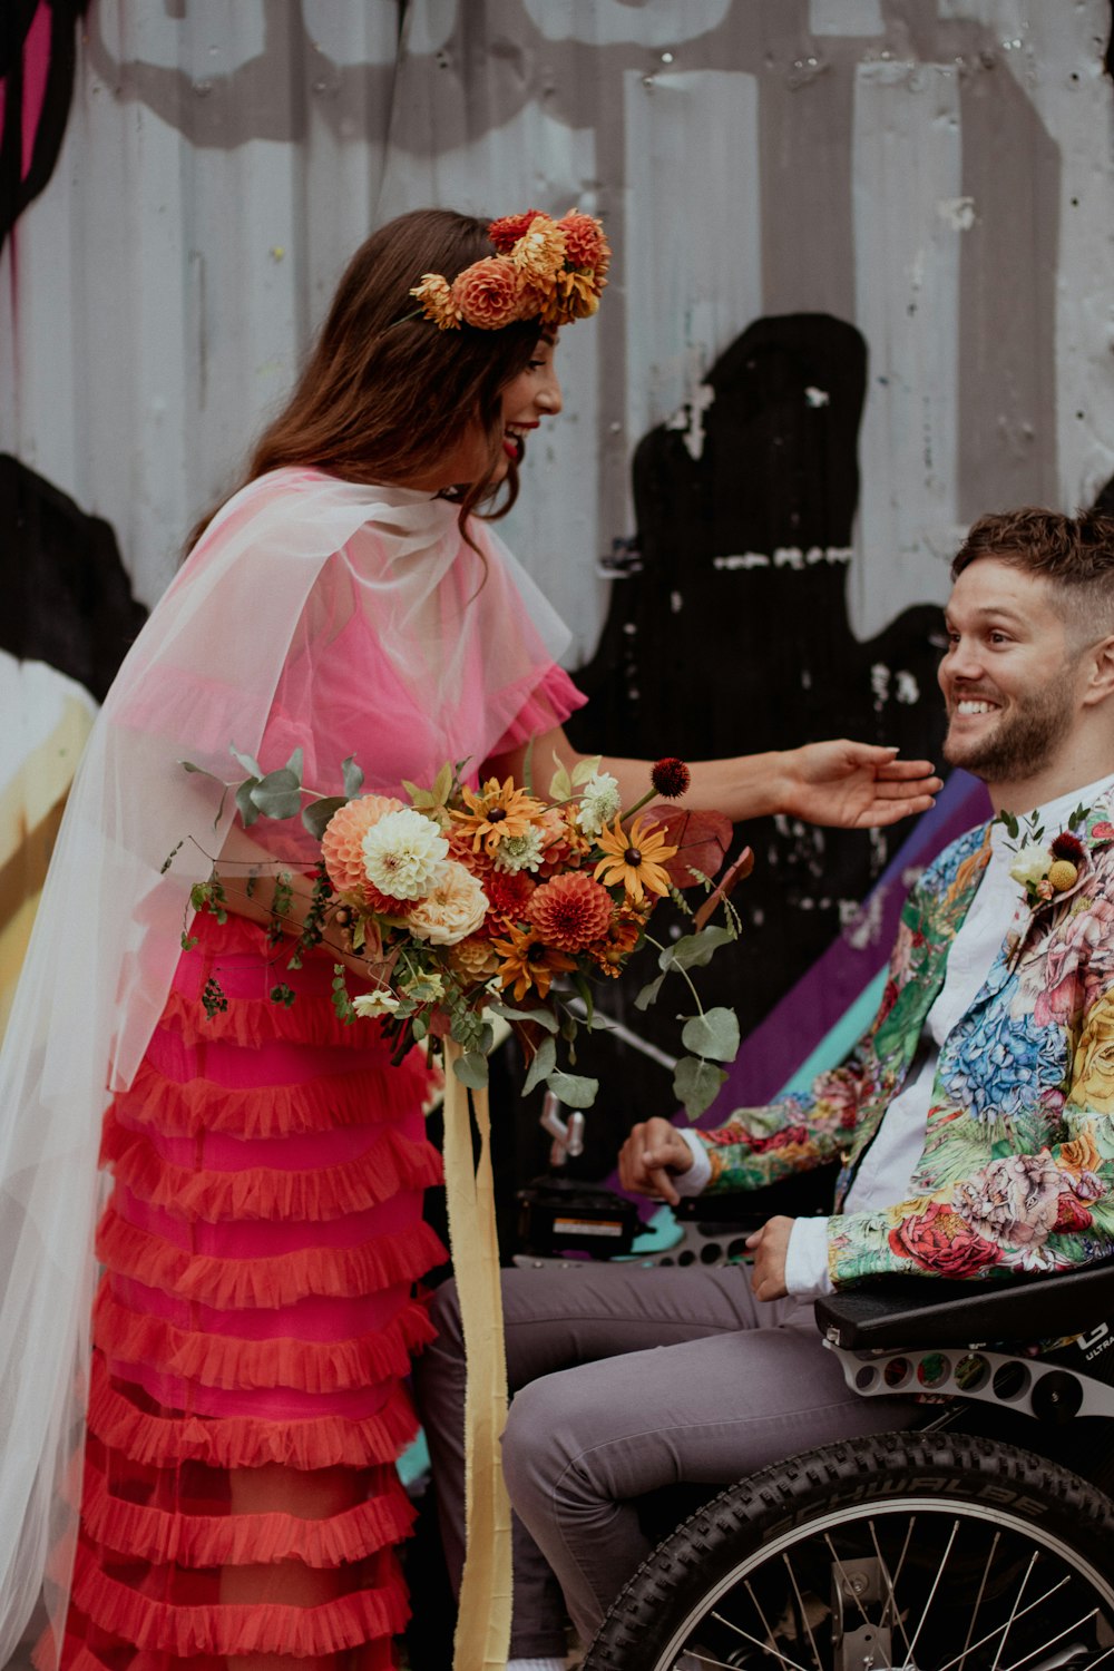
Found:
[[[473,261],[449,284],[423,272],[411,296],[439,331],[501,331],[519,319],[556,329],[588,319],[608,282],[611,246],[600,221],[570,209],[553,221],[538,209],[503,216],[488,227],[498,254]]]

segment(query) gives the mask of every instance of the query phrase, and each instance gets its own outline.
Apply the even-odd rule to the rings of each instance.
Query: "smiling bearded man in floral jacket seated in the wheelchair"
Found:
[[[1114,1252],[1114,520],[984,516],[952,566],[945,757],[994,824],[904,914],[882,1009],[808,1098],[718,1131],[635,1126],[646,1195],[755,1188],[842,1160],[828,1218],[770,1218],[738,1267],[504,1273],[519,1516],[513,1671],[560,1671],[646,1554],[638,1499],[720,1486],[833,1439],[909,1425],[857,1399],[808,1302],[919,1272],[1002,1278]],[[1036,809],[1036,810],[1034,810]],[[449,1564],[461,1541],[459,1318],[418,1367]]]

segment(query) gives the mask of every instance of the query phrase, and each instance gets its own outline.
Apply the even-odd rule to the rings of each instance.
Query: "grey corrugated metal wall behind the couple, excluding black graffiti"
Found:
[[[0,449],[112,523],[150,602],[371,226],[576,202],[615,282],[511,538],[578,658],[633,446],[792,311],[867,338],[877,630],[944,595],[979,510],[1114,473],[1107,28],[1106,0],[94,0],[0,259]]]

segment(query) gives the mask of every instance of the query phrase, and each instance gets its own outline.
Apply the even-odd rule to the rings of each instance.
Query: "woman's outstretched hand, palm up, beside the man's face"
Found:
[[[865,742],[810,742],[782,755],[782,812],[808,824],[860,830],[927,812],[944,785],[929,760]]]

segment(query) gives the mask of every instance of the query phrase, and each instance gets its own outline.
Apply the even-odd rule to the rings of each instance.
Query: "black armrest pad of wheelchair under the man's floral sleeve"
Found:
[[[850,1350],[962,1347],[1076,1335],[1114,1315],[1114,1257],[1052,1277],[884,1277],[817,1300],[817,1328]]]

